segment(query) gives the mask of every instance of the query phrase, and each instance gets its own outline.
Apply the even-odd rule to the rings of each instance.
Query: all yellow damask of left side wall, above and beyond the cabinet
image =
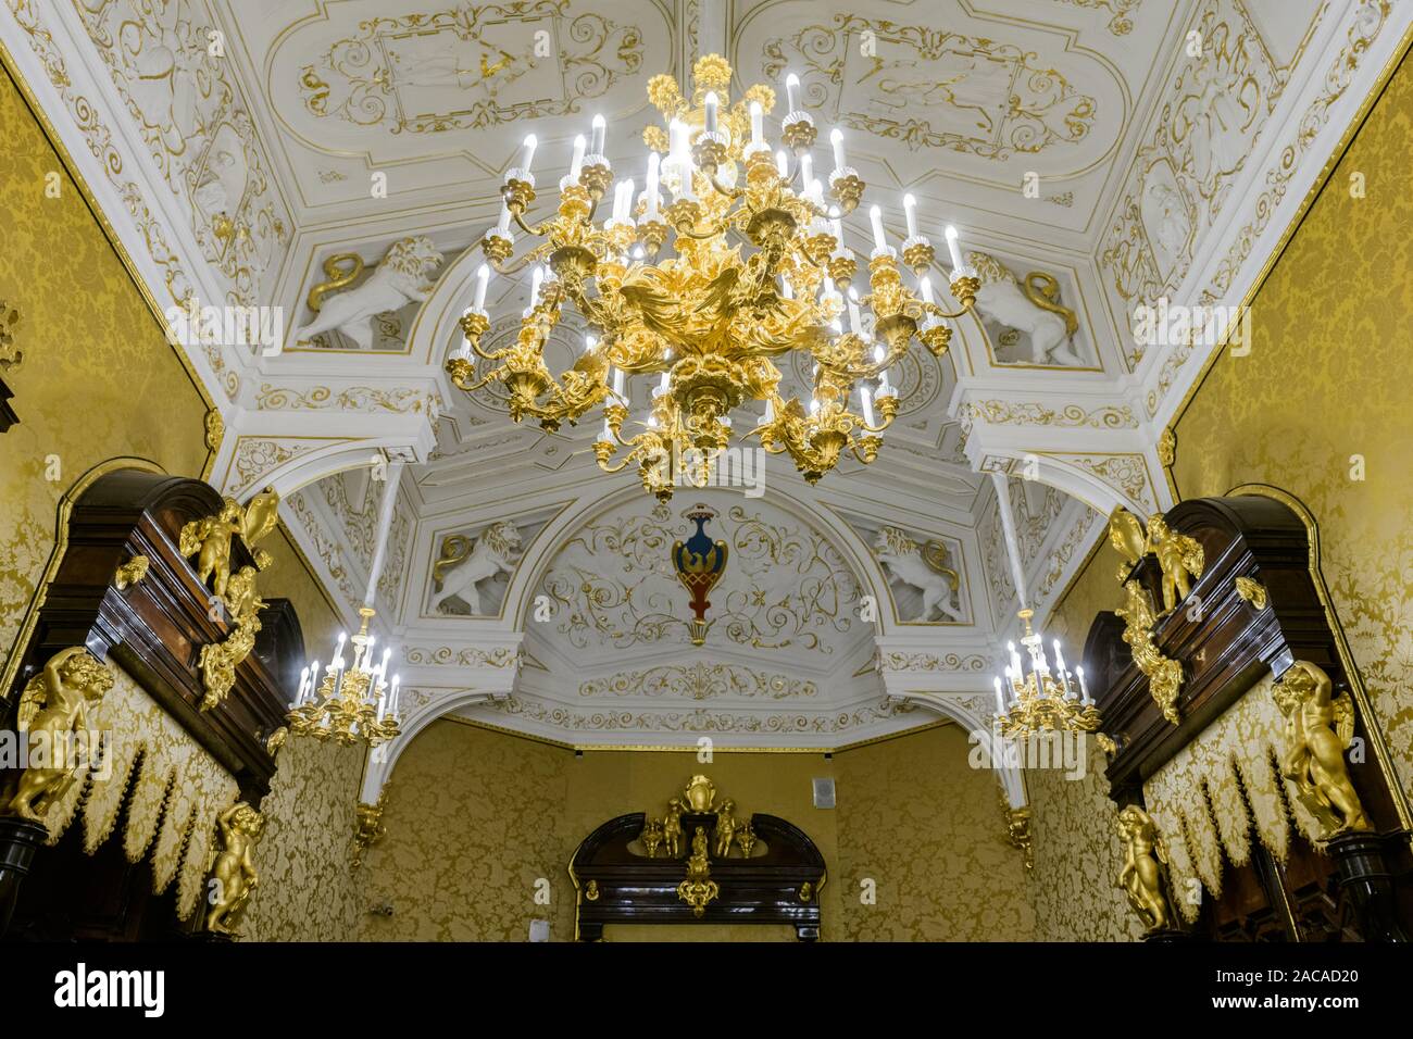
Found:
[[[199,476],[206,403],[8,74],[0,75],[0,300],[20,310],[24,360],[4,372],[20,424],[0,434],[0,667],[54,548],[59,498],[117,455]],[[58,196],[47,195],[48,174]],[[52,476],[52,478],[51,478]],[[294,602],[311,647],[339,626],[284,530],[261,592]],[[356,751],[291,741],[256,852],[250,937],[348,939]]]

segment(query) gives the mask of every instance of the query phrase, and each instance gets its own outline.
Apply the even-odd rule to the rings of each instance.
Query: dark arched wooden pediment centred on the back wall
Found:
[[[643,831],[646,816],[636,811],[610,818],[584,838],[569,861],[578,888],[578,939],[596,941],[610,923],[776,923],[796,929],[803,941],[820,937],[818,889],[825,878],[824,857],[803,830],[776,816],[755,814],[750,826],[766,847],[752,858],[712,858],[711,879],[721,886],[701,916],[677,896],[687,878],[685,847],[681,858],[647,858],[629,850]],[[714,841],[716,816],[684,814],[684,845],[695,827]],[[589,884],[598,898],[585,892]],[[800,898],[803,885],[810,898]]]

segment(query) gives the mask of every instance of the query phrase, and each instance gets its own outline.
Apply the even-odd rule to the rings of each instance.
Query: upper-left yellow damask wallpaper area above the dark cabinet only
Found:
[[[24,352],[4,373],[20,424],[0,450],[3,669],[54,547],[64,492],[116,455],[198,475],[206,406],[7,74],[0,140],[0,300],[20,311]]]

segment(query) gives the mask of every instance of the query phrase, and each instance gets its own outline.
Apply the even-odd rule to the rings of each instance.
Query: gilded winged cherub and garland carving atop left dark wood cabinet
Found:
[[[201,647],[198,667],[205,695],[201,710],[218,707],[236,684],[236,667],[240,666],[256,645],[260,630],[259,614],[266,602],[256,589],[256,575],[273,561],[270,553],[256,544],[274,530],[280,522],[280,496],[273,488],[250,499],[243,506],[235,498],[226,498],[215,516],[191,520],[178,536],[178,551],[188,560],[195,560],[196,580],[209,584],[215,606],[223,606],[230,625],[225,642],[213,642]],[[240,537],[254,557],[256,565],[240,567],[230,573],[232,539]]]

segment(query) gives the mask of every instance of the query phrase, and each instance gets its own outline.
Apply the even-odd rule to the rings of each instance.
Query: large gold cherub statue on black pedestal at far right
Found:
[[[1354,741],[1354,703],[1331,697],[1332,683],[1318,664],[1297,660],[1270,693],[1286,715],[1286,753],[1280,773],[1324,828],[1327,841],[1354,830],[1372,830],[1349,782],[1344,751]]]

